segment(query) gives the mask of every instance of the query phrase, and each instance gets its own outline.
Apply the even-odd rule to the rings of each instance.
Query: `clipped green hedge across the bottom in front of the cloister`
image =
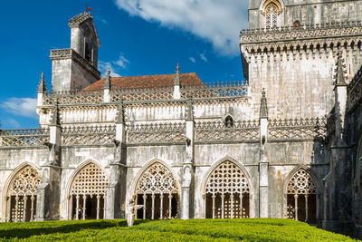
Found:
[[[13,241],[354,241],[290,219],[48,221],[0,223],[0,240]]]

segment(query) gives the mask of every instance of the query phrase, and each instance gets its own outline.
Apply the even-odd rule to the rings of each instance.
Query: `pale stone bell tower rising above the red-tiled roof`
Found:
[[[100,38],[93,16],[84,12],[69,20],[71,48],[51,50],[52,92],[70,92],[100,80]]]

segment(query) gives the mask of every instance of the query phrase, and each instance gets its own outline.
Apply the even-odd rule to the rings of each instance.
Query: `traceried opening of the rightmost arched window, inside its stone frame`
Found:
[[[317,187],[310,174],[299,169],[287,187],[287,217],[310,224],[317,222]]]

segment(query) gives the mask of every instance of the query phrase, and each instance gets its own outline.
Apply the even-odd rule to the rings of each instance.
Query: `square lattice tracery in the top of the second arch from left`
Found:
[[[94,163],[90,163],[74,179],[71,195],[105,195],[108,178],[104,171]]]

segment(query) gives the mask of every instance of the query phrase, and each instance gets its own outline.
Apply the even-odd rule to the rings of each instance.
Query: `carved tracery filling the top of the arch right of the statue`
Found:
[[[137,194],[177,194],[176,180],[171,171],[156,162],[138,180]]]

